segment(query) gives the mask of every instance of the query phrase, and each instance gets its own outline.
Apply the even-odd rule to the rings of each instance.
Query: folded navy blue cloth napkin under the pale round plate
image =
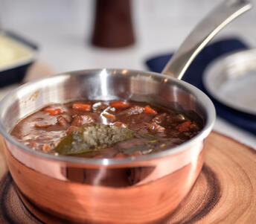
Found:
[[[231,53],[232,51],[245,50],[247,48],[249,47],[238,38],[228,38],[213,42],[205,47],[196,57],[196,59],[193,60],[193,63],[191,63],[189,66],[188,71],[186,71],[182,80],[191,83],[193,86],[201,89],[202,92],[205,92],[205,94],[207,94],[213,101],[218,116],[224,118],[226,121],[229,121],[231,124],[235,124],[238,127],[246,129],[247,131],[256,135],[255,115],[239,112],[225,106],[223,103],[220,103],[217,100],[214,100],[214,98],[208,94],[202,84],[202,75],[204,74],[205,68],[209,63],[223,54]],[[146,61],[146,64],[151,71],[160,73],[172,55],[173,54],[164,54],[150,58]]]

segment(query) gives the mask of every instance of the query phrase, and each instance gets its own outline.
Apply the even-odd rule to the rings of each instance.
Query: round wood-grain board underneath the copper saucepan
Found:
[[[1,153],[0,158],[0,223],[49,223],[51,217],[36,208],[31,211],[37,217],[28,211],[10,174],[3,172]],[[166,223],[256,223],[255,167],[255,150],[212,132],[196,184]]]

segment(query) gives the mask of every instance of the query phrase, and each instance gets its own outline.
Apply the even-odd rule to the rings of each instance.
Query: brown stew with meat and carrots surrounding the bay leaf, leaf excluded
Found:
[[[58,155],[54,148],[77,127],[87,124],[108,124],[154,135],[156,141],[132,138],[112,147],[74,156],[116,158],[141,156],[175,147],[200,131],[194,121],[179,112],[135,101],[76,100],[52,104],[19,121],[10,132],[17,141],[33,150]]]

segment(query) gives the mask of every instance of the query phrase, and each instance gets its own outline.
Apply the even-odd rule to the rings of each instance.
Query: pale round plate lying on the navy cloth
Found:
[[[216,100],[256,115],[256,49],[214,60],[202,76],[205,89]]]

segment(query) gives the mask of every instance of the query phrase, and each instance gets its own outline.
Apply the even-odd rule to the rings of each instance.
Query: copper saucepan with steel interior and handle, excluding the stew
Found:
[[[72,71],[27,83],[4,97],[0,103],[4,152],[25,204],[73,223],[161,223],[169,216],[199,175],[205,138],[215,120],[211,100],[180,79],[208,41],[250,7],[246,1],[226,1],[217,7],[188,36],[163,74],[127,69]],[[42,106],[81,97],[156,103],[184,112],[204,126],[178,147],[128,159],[53,156],[10,136],[17,121]]]

